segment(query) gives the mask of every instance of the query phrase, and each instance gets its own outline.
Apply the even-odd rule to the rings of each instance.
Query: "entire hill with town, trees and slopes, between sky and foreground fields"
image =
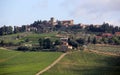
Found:
[[[53,35],[53,33],[55,33]],[[6,40],[4,35],[13,35],[11,39],[16,42]],[[31,35],[29,35],[31,34]],[[52,37],[33,37],[36,34],[51,34]],[[49,21],[34,21],[30,25],[19,26],[3,26],[0,28],[0,46],[2,47],[15,47],[17,50],[44,50],[50,49],[54,51],[64,51],[72,49],[83,49],[89,44],[109,44],[120,45],[120,27],[113,26],[108,23],[102,25],[86,25],[74,24],[74,20],[55,20],[50,18]],[[24,39],[25,38],[25,39]],[[52,38],[54,40],[52,40]],[[56,40],[55,40],[56,39]],[[34,41],[36,40],[36,41]]]

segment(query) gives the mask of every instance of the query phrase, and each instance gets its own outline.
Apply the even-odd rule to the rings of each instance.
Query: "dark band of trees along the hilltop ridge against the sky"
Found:
[[[86,26],[84,29],[81,27],[81,25],[72,25],[72,26],[64,26],[62,25],[59,21],[57,25],[51,25],[48,21],[35,21],[34,23],[30,25],[22,25],[21,27],[14,26],[3,26],[0,27],[0,35],[8,35],[8,34],[14,34],[14,33],[19,33],[19,32],[26,32],[27,27],[35,27],[37,29],[37,33],[46,33],[46,32],[51,32],[51,31],[66,31],[66,32],[92,32],[92,33],[112,33],[114,34],[115,32],[120,32],[120,27],[118,26],[113,26],[110,25],[109,23],[103,23],[99,27],[91,24]]]

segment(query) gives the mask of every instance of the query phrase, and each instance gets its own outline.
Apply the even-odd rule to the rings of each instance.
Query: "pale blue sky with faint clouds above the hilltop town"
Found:
[[[0,26],[31,24],[50,17],[120,26],[120,0],[0,0]]]

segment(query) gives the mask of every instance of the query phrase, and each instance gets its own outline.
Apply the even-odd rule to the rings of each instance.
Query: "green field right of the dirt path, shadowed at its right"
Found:
[[[74,52],[42,75],[120,75],[120,57]]]

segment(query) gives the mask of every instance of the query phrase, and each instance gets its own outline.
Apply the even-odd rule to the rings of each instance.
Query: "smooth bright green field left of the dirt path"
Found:
[[[0,49],[0,75],[35,75],[61,54],[60,52],[18,52]]]

